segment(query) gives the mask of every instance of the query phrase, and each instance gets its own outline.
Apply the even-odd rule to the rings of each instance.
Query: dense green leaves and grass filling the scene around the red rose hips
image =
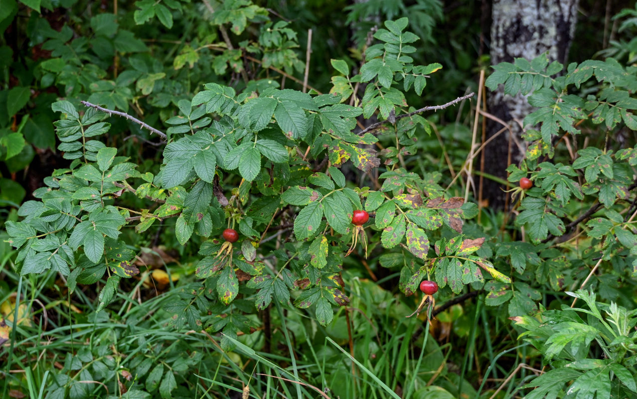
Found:
[[[349,6],[352,48],[319,29],[310,65],[301,11],[111,11],[0,0],[3,395],[637,396],[634,40],[493,67],[535,107],[496,212],[476,97],[433,95],[448,53],[419,46],[437,1]]]

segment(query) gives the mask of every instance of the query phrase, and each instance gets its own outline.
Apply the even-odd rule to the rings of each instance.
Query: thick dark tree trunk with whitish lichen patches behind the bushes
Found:
[[[548,52],[550,61],[566,65],[568,50],[575,31],[579,0],[494,0],[490,55],[491,64],[513,62],[515,58],[534,59]],[[510,128],[485,148],[485,172],[506,179],[506,167],[518,164],[526,150],[522,139],[522,121],[533,111],[526,96],[504,94],[503,85],[489,92],[489,113],[500,118]],[[504,126],[487,121],[487,139]],[[483,192],[489,206],[502,209],[506,193],[502,185],[485,179]]]

